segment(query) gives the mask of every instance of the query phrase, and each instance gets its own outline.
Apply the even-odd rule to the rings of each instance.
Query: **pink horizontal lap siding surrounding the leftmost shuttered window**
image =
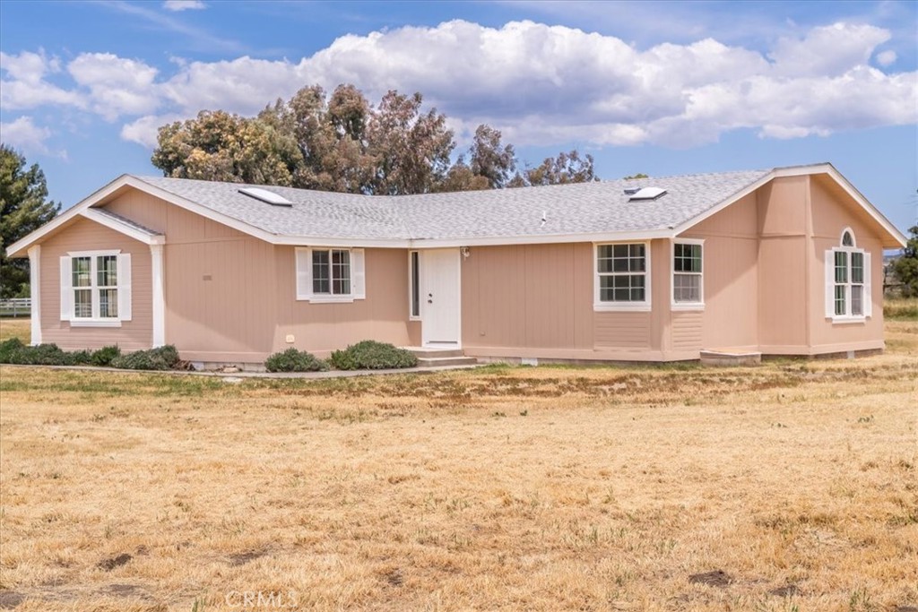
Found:
[[[131,320],[120,328],[71,328],[61,320],[61,257],[68,251],[113,250],[130,253]],[[150,247],[89,219],[79,219],[41,243],[41,340],[68,351],[117,344],[122,351],[152,344]]]

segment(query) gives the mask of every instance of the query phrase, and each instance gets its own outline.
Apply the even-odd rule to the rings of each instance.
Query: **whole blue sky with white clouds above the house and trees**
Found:
[[[157,173],[156,128],[303,85],[420,91],[460,147],[589,152],[602,178],[831,161],[918,214],[914,2],[0,3],[0,137],[72,206]]]

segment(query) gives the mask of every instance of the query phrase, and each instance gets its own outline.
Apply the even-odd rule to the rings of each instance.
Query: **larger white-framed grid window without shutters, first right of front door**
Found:
[[[649,309],[647,250],[644,242],[596,246],[596,309]]]

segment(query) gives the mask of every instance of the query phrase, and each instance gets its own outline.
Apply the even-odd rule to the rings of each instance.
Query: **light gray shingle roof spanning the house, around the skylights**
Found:
[[[353,195],[267,187],[293,206],[239,193],[243,185],[135,177],[271,234],[323,239],[485,239],[675,228],[717,206],[770,170],[428,195]],[[629,202],[625,188],[666,195]],[[542,222],[543,216],[545,222]]]

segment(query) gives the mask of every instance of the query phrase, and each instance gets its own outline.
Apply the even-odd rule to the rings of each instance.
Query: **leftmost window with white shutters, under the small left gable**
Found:
[[[61,319],[88,326],[130,320],[130,255],[111,250],[62,257]]]

